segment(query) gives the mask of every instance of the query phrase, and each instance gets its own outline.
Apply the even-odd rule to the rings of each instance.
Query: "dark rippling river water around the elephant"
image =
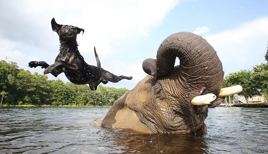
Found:
[[[139,135],[89,124],[108,110],[0,108],[0,153],[268,153],[268,108],[209,109],[205,135]]]

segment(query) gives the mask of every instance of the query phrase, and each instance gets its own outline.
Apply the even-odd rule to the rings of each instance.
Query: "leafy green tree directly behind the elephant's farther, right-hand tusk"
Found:
[[[238,72],[230,73],[224,79],[226,87],[241,85],[243,91],[240,93],[246,98],[252,98],[254,95],[260,95],[260,89],[253,80],[253,74],[251,70],[240,70]]]

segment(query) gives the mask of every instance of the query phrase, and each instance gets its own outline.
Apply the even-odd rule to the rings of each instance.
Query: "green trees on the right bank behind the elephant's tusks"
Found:
[[[252,69],[240,70],[227,75],[224,78],[225,86],[241,85],[243,91],[239,95],[243,95],[246,101],[255,95],[264,95],[268,98],[268,44],[264,58],[265,63],[255,65]]]

